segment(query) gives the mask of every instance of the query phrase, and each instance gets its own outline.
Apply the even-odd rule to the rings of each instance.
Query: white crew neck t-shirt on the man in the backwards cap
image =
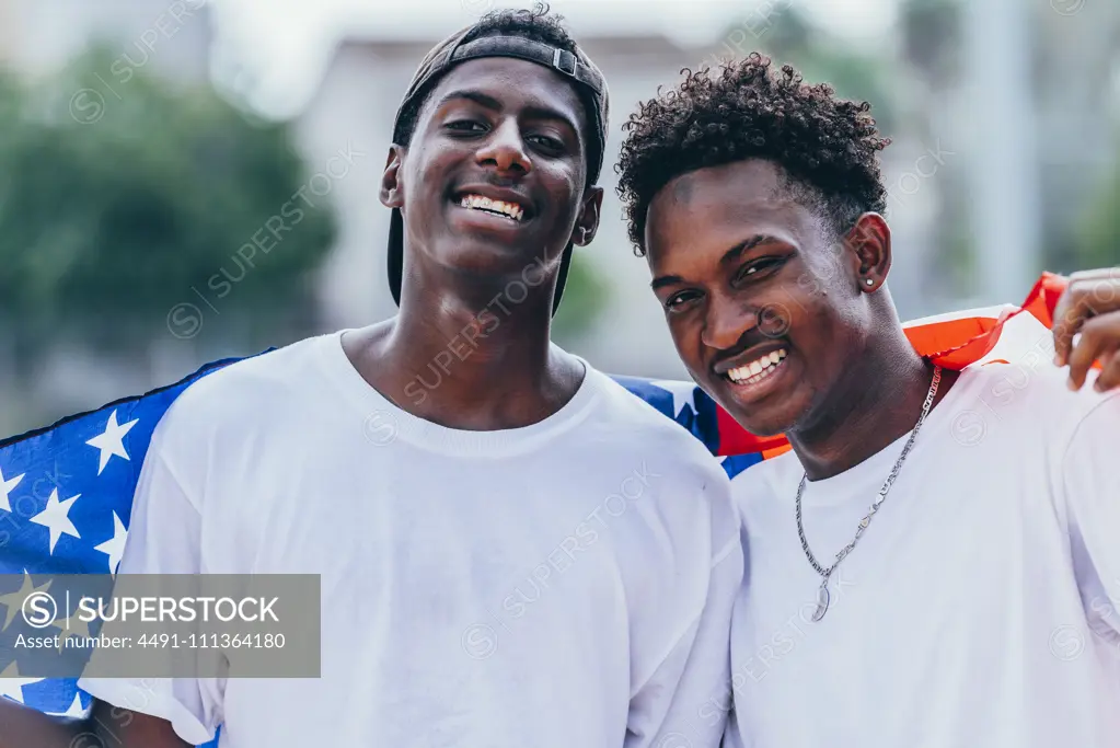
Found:
[[[718,746],[730,481],[584,364],[559,412],[503,431],[395,408],[338,333],[192,385],[119,572],[321,574],[321,677],[80,685],[194,744],[221,724],[221,748]]]

